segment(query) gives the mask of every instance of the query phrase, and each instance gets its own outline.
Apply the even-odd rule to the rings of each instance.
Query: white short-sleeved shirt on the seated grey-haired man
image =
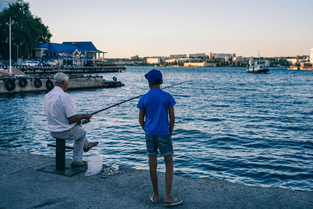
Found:
[[[60,133],[72,128],[67,118],[76,115],[74,103],[68,93],[59,86],[55,86],[44,96],[44,112],[47,117],[48,131]]]

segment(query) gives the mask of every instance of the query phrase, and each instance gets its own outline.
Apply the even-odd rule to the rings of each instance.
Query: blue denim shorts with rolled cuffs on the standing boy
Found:
[[[162,156],[172,155],[174,153],[170,134],[163,136],[146,134],[146,146],[147,155],[158,155],[158,148]]]

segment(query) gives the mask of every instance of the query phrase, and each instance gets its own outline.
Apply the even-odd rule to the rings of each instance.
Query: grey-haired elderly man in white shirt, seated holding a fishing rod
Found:
[[[92,115],[85,113],[77,115],[72,98],[65,93],[69,88],[69,77],[64,73],[54,76],[54,89],[44,96],[44,111],[47,117],[47,128],[53,138],[74,141],[74,151],[71,167],[86,165],[83,161],[83,151],[88,152],[98,142],[88,142],[86,131],[81,127],[80,120],[90,119]],[[79,121],[79,125],[76,122]]]

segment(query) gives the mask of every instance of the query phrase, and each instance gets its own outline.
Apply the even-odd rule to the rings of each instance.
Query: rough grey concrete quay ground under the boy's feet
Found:
[[[37,171],[54,157],[0,150],[0,208],[165,208],[153,204],[148,170],[121,167],[122,174],[100,178],[102,172],[72,177]],[[66,166],[71,163],[66,159]],[[107,167],[104,165],[104,167]],[[165,174],[158,173],[161,203]],[[313,192],[234,184],[216,179],[174,175],[175,208],[313,208]]]

